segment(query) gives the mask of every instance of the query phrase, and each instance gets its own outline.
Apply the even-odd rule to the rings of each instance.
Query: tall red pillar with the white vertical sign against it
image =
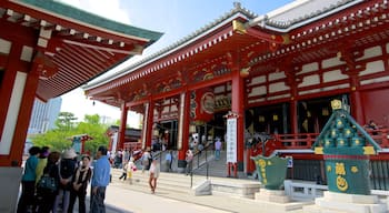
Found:
[[[238,171],[243,171],[243,150],[245,150],[245,90],[243,78],[240,75],[239,65],[232,68],[232,103],[231,111],[238,114],[237,126],[237,164]]]

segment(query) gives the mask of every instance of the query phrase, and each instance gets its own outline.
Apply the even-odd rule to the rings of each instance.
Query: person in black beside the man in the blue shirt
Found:
[[[86,195],[87,195],[87,186],[92,175],[92,170],[90,169],[90,156],[83,155],[82,164],[76,170],[72,179],[72,189],[70,190],[70,203],[68,213],[73,212],[73,206],[76,203],[76,199],[78,197],[78,211],[79,213],[86,213]]]

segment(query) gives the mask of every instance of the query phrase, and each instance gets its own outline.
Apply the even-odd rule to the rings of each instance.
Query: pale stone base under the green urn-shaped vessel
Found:
[[[257,192],[255,200],[258,203],[258,210],[261,212],[281,213],[302,209],[308,204],[305,202],[290,202],[289,196],[281,190],[261,189]]]

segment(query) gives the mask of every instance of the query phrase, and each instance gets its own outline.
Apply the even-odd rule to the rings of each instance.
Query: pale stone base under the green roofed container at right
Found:
[[[305,213],[385,213],[388,212],[386,203],[379,201],[377,195],[342,194],[325,192],[323,197],[315,200],[315,205],[303,206]]]

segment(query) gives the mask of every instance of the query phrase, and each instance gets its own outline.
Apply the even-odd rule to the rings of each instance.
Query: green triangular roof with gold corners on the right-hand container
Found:
[[[350,115],[343,101],[331,101],[331,108],[333,112],[313,144],[316,154],[368,155],[381,150]]]

